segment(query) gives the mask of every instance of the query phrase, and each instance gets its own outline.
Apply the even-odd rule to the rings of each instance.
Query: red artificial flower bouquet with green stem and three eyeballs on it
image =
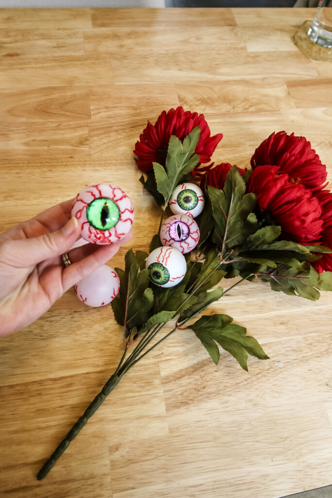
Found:
[[[124,352],[38,480],[123,375],[177,330],[190,328],[216,364],[219,346],[244,370],[248,355],[268,359],[230,316],[198,318],[240,282],[266,281],[273,291],[311,300],[319,299],[320,290],[332,290],[332,193],[326,190],[326,166],[310,142],[272,133],[244,170],[210,163],[221,138],[211,136],[203,115],[178,107],[148,123],[136,142],[140,182],[161,207],[161,219],[149,254],[130,249],[124,269],[115,268],[120,289],[111,306],[123,329]],[[174,214],[164,221],[168,206]],[[237,281],[227,286],[233,277]],[[165,333],[170,320],[174,326]]]

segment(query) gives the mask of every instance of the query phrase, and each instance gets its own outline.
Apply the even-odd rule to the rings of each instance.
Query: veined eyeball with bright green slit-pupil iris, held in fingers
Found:
[[[99,183],[77,195],[72,216],[81,223],[83,239],[93,244],[111,244],[129,232],[134,208],[119,187]]]

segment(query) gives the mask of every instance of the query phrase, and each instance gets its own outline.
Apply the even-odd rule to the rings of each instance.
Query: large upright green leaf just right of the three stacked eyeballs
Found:
[[[224,256],[225,251],[244,244],[252,233],[252,221],[247,218],[255,207],[256,196],[245,193],[245,183],[236,166],[229,170],[223,191],[209,186],[208,193],[216,224],[213,240]]]

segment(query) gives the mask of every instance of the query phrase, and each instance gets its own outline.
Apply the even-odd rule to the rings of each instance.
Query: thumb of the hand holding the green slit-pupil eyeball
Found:
[[[74,216],[56,232],[50,232],[32,239],[16,240],[10,243],[10,259],[15,266],[32,266],[45,259],[59,256],[76,241],[81,227]]]

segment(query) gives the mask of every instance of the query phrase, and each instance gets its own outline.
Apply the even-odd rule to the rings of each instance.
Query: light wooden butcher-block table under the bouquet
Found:
[[[272,131],[303,134],[332,179],[332,64],[290,41],[315,9],[0,11],[0,231],[87,185],[123,187],[132,243],[159,211],[133,146],[179,104],[223,133],[217,162],[246,167]],[[111,307],[71,289],[0,341],[0,495],[276,498],[332,483],[332,303],[244,283],[214,306],[271,360],[216,367],[187,330],[132,369],[41,482],[45,458],[117,365]]]

